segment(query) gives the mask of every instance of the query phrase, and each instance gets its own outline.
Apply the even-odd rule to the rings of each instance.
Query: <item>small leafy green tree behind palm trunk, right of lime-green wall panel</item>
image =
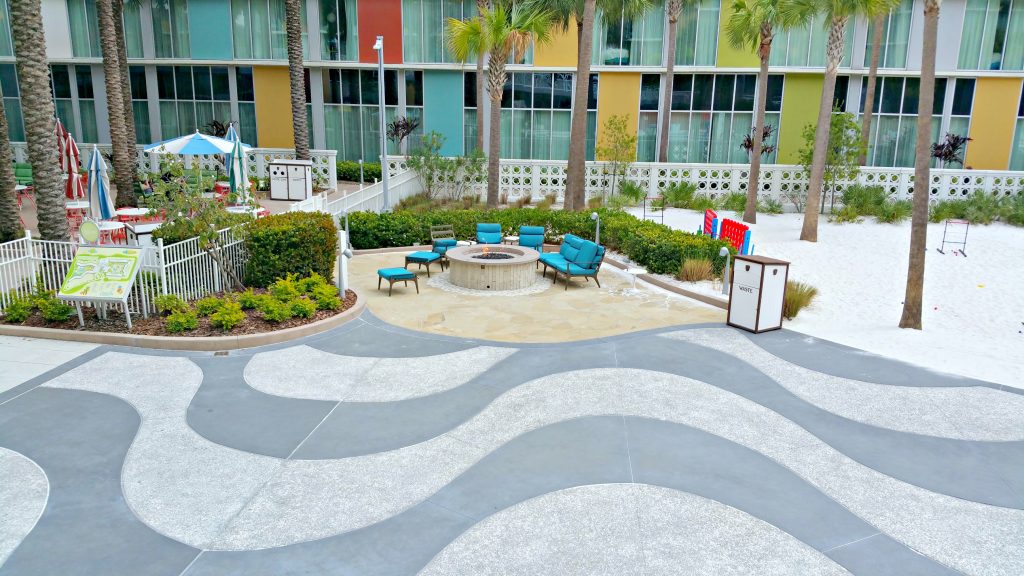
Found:
[[[800,164],[804,171],[811,173],[814,161],[814,140],[817,137],[817,127],[808,124],[804,127],[804,148],[800,150]],[[860,139],[860,124],[849,112],[834,110],[829,123],[828,148],[825,155],[824,191],[830,197],[830,203],[836,202],[836,184],[842,180],[856,177],[860,171],[860,154],[863,150]],[[821,195],[819,211],[824,212],[825,195]]]

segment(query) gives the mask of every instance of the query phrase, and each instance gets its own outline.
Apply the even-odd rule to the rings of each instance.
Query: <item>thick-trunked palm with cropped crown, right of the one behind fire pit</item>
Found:
[[[565,172],[565,209],[587,207],[587,99],[590,89],[590,60],[594,52],[594,18],[598,8],[606,22],[642,15],[651,0],[545,0],[562,30],[577,25],[575,92],[572,96],[572,125],[569,129],[569,162]]]

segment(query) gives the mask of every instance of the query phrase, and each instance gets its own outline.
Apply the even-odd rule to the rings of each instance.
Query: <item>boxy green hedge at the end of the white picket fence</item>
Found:
[[[329,214],[286,212],[245,227],[246,284],[266,287],[289,274],[334,278],[338,229]]]

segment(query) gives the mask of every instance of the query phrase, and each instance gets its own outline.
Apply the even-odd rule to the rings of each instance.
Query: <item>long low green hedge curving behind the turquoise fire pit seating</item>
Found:
[[[655,274],[676,274],[683,259],[706,258],[721,273],[725,258],[719,251],[728,243],[672,230],[625,212],[602,209],[601,244],[620,251]],[[497,222],[506,234],[520,225],[543,225],[548,240],[563,234],[594,238],[590,212],[508,208],[504,210],[437,210],[425,213],[353,212],[349,214],[352,247],[357,250],[430,243],[430,227],[452,224],[458,238],[473,238],[477,222]],[[735,254],[735,250],[729,247]]]

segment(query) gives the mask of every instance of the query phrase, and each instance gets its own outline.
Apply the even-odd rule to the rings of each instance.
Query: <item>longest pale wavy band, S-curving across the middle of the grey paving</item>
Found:
[[[102,377],[130,370],[144,371],[137,383]],[[425,500],[526,431],[622,414],[686,424],[757,450],[897,540],[965,572],[1014,573],[1024,566],[1024,547],[1017,545],[1024,540],[1024,512],[892,479],[759,404],[673,374],[616,368],[553,374],[509,390],[469,421],[420,444],[285,461],[191,431],[185,410],[199,387],[197,372],[185,359],[110,353],[47,384],[135,406],[142,423],[125,461],[125,498],[155,530],[197,547],[259,549],[362,528]]]

